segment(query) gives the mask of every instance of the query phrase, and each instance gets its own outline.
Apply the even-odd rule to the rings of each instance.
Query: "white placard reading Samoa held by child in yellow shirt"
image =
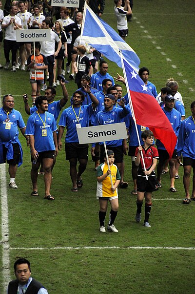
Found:
[[[98,143],[127,138],[125,123],[77,128],[79,144]]]

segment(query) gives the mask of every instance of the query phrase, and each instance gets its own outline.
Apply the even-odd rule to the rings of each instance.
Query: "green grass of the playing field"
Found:
[[[106,0],[103,19],[116,29],[113,6],[112,0]],[[137,52],[141,60],[140,67],[147,66],[150,69],[150,81],[156,85],[157,92],[168,78],[176,79],[188,117],[191,114],[190,104],[195,100],[194,93],[189,90],[189,87],[195,87],[192,62],[195,47],[195,39],[192,38],[192,27],[195,25],[194,1],[178,0],[170,4],[167,0],[140,0],[135,2],[133,12],[137,19],[129,22],[129,36],[126,41]],[[154,40],[156,44],[152,43]],[[156,49],[156,46],[161,49]],[[162,55],[161,51],[165,52],[166,56]],[[170,58],[172,62],[166,58]],[[4,64],[2,49],[0,61]],[[115,63],[108,63],[110,74],[122,74],[122,69]],[[172,64],[177,67],[172,68]],[[183,76],[178,76],[177,72],[181,72]],[[183,80],[187,80],[188,84],[183,83]],[[29,74],[23,71],[12,73],[0,70],[0,85],[1,94],[9,92],[22,96],[27,92],[30,96],[31,93]],[[71,82],[67,89],[71,96],[76,84]],[[125,92],[124,87],[123,90]],[[60,96],[61,89],[58,86],[56,97]],[[15,108],[22,113],[26,122],[28,116],[24,112],[22,97],[15,97]],[[16,258],[24,256],[31,261],[32,276],[42,282],[50,294],[194,293],[195,251],[126,249],[131,246],[195,247],[194,230],[191,226],[194,221],[194,202],[184,206],[181,200],[153,200],[150,216],[152,228],[143,228],[142,221],[140,224],[135,222],[136,197],[130,194],[133,189],[131,163],[130,157],[125,157],[125,180],[129,183],[129,188],[119,189],[120,207],[116,219],[119,233],[102,234],[98,231],[96,173],[91,157],[89,156],[87,170],[82,176],[82,189],[79,189],[78,193],[72,193],[69,163],[65,161],[64,151],[59,152],[51,189],[56,200],[49,202],[43,200],[42,176],[39,176],[38,182],[40,197],[30,196],[30,153],[22,136],[20,139],[24,157],[16,177],[19,189],[8,189],[10,247],[27,249],[117,246],[120,249],[13,249],[10,250],[11,273]],[[179,174],[181,178],[176,180],[177,193],[169,191],[170,180],[166,174],[162,176],[163,188],[154,193],[154,198],[182,199],[182,168],[179,169]],[[106,223],[109,211],[110,208]],[[144,209],[142,214],[143,220]],[[2,247],[0,254],[2,255]]]

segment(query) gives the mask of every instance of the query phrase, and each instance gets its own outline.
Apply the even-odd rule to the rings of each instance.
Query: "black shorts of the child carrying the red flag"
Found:
[[[156,176],[140,177],[137,175],[137,191],[139,192],[154,192],[158,190],[158,184]]]

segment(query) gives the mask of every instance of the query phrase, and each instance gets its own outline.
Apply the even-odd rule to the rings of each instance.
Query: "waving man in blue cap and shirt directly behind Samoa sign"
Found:
[[[130,113],[130,108],[125,105],[125,99],[122,98],[118,102],[120,107],[115,106],[115,97],[112,94],[107,94],[104,98],[104,108],[99,111],[95,121],[94,126],[116,124],[121,123],[123,118]],[[99,142],[100,145],[100,163],[104,162],[103,152],[104,144]],[[94,153],[96,144],[92,144],[92,154]],[[111,149],[115,153],[115,164],[117,165],[119,172],[123,168],[123,145],[121,140],[107,141],[107,148]]]

